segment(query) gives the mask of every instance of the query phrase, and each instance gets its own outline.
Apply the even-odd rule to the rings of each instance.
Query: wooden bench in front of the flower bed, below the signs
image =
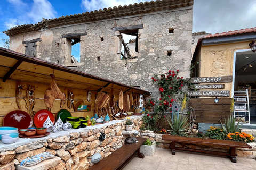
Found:
[[[221,155],[227,156],[230,158],[231,162],[236,163],[236,148],[252,148],[247,143],[235,142],[228,140],[217,140],[217,139],[204,139],[204,138],[190,138],[190,137],[179,137],[175,135],[162,135],[162,140],[172,141],[169,148],[172,149],[172,155],[175,155],[175,150],[185,150],[185,151],[194,151],[201,152],[205,154]],[[175,143],[180,143],[181,147],[176,147]],[[186,144],[196,144],[196,145],[217,145],[223,147],[229,147],[229,152],[220,152],[220,151],[211,151],[211,150],[199,150],[184,148]]]

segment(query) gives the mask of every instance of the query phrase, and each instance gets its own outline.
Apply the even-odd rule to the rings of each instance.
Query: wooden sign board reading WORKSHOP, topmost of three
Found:
[[[191,83],[226,83],[232,82],[232,76],[190,78]]]

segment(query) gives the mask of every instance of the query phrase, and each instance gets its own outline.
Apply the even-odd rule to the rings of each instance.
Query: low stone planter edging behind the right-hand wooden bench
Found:
[[[156,146],[160,148],[165,148],[169,149],[171,141],[164,141],[162,140],[162,135],[163,134],[155,134],[153,131],[141,131],[140,136],[142,138],[148,138],[150,141],[156,141]],[[256,159],[256,142],[254,143],[248,143],[250,146],[252,146],[251,149],[247,148],[237,148],[236,149],[236,154],[238,157],[244,157],[244,158],[252,158]],[[180,144],[176,144],[178,147],[181,147]],[[220,146],[204,146],[204,145],[185,145],[184,147],[186,148],[191,148],[191,149],[201,149],[201,150],[211,150],[211,151],[222,151],[222,152],[227,152],[229,150],[229,147],[220,147]]]

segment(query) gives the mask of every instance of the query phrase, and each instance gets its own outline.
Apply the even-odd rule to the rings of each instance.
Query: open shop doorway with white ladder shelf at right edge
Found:
[[[245,122],[247,123],[250,120],[250,124],[256,124],[256,53],[247,49],[238,50],[234,53],[232,94],[234,95],[236,91],[246,90],[248,91],[248,101],[243,103],[241,101],[243,97],[239,99],[240,101],[237,101],[236,97],[234,98],[237,101],[235,101],[235,106],[245,106],[245,112],[235,112],[235,115],[238,115],[237,117],[245,117]]]

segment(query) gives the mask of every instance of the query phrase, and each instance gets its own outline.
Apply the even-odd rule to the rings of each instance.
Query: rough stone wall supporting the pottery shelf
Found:
[[[132,121],[132,129],[139,131],[142,125],[142,117],[133,118]],[[125,121],[103,126],[103,128],[73,132],[65,136],[49,138],[47,142],[37,141],[19,146],[14,150],[0,153],[0,169],[34,169],[34,166],[26,166],[24,168],[19,164],[23,159],[42,152],[50,152],[59,159],[54,162],[51,161],[52,159],[44,160],[42,162],[44,165],[40,164],[40,170],[88,169],[90,166],[93,166],[89,157],[96,152],[99,152],[103,159],[123,146],[125,140],[122,134],[123,130],[125,130]],[[104,141],[99,140],[101,132],[106,134]]]

